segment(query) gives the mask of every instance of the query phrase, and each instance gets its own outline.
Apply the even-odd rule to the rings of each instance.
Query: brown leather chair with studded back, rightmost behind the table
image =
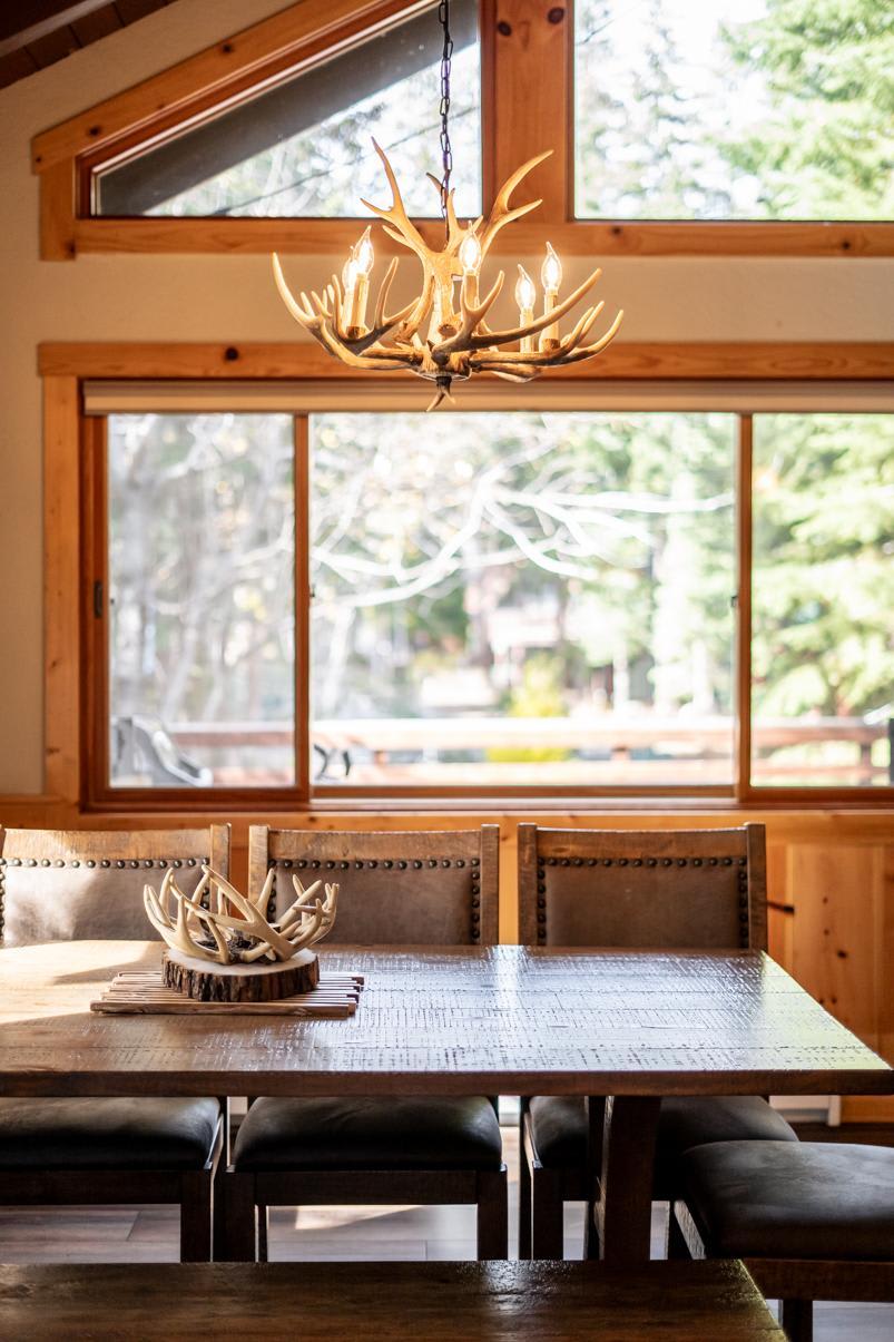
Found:
[[[524,945],[766,949],[765,833],[737,829],[601,831],[518,827]],[[592,1102],[591,1102],[592,1103]],[[588,1202],[587,1252],[597,1256],[587,1174],[587,1106],[579,1098],[522,1100],[519,1256],[562,1256],[562,1208]],[[655,1201],[671,1201],[678,1159],[702,1142],[797,1137],[753,1095],[662,1100]],[[675,1233],[673,1217],[668,1236]]]

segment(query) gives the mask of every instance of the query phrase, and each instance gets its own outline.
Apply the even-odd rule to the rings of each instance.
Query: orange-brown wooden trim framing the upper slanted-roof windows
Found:
[[[101,219],[91,216],[91,174],[137,146],[235,106],[286,74],[307,68],[360,36],[424,11],[431,0],[303,0],[205,51],[89,107],[32,142],[40,177],[40,255],[82,252],[344,251],[358,220]],[[632,221],[573,216],[573,4],[479,0],[483,193],[549,148],[529,178],[542,197],[536,221],[503,231],[495,255],[540,252],[550,242],[569,256],[894,256],[894,223]],[[462,165],[458,165],[462,170]],[[529,197],[530,199],[530,197]],[[369,220],[364,219],[362,225]],[[436,238],[439,221],[420,221]],[[396,250],[376,239],[384,254]]]

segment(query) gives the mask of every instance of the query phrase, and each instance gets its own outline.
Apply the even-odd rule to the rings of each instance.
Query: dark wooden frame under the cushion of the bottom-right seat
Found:
[[[673,1206],[671,1239],[677,1259],[707,1259],[705,1240],[687,1204]],[[894,1300],[894,1263],[828,1259],[745,1259],[745,1267],[768,1300],[781,1300],[789,1342],[812,1342],[813,1300]]]

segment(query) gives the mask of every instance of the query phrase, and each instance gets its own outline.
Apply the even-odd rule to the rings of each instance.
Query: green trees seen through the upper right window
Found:
[[[894,213],[894,7],[579,0],[576,207],[622,219]],[[697,30],[697,31],[695,31]]]

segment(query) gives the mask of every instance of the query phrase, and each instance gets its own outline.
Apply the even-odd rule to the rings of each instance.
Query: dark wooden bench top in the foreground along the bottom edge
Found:
[[[5,1342],[784,1342],[738,1261],[0,1267]]]

